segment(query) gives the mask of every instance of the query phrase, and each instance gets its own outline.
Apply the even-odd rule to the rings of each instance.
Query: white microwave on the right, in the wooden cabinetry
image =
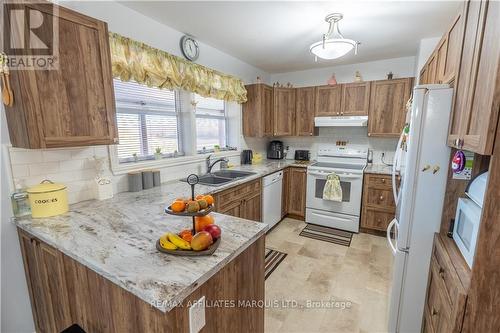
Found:
[[[474,253],[476,252],[480,222],[481,207],[471,199],[459,198],[455,224],[453,225],[453,240],[465,258],[467,265],[471,268],[474,261]]]

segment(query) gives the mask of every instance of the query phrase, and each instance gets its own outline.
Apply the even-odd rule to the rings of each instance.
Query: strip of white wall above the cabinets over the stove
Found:
[[[333,66],[310,69],[298,72],[271,74],[271,83],[279,81],[281,84],[292,83],[295,87],[324,85],[335,73],[337,82],[353,82],[356,71],[361,73],[365,81],[383,80],[387,73],[392,72],[394,78],[410,77],[415,73],[415,57],[403,57],[358,64]]]

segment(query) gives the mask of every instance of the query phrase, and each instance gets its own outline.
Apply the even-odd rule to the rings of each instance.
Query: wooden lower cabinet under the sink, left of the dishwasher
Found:
[[[246,184],[214,194],[215,211],[221,214],[262,221],[262,181]]]

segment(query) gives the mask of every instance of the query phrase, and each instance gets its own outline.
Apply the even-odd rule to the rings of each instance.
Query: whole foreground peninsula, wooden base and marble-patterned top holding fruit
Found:
[[[190,228],[189,218],[163,212],[188,192],[172,182],[17,219],[37,331],[76,323],[86,332],[189,332],[189,306],[205,296],[203,331],[262,332],[265,224],[213,213],[222,229],[213,255],[156,250],[163,233]]]

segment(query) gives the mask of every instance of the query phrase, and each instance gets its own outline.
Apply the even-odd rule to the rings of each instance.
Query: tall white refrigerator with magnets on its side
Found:
[[[448,85],[414,88],[406,118],[409,131],[403,130],[394,156],[396,217],[387,228],[394,254],[390,332],[421,332],[433,237],[441,223],[448,173],[452,95]],[[396,174],[401,177],[399,189]]]

